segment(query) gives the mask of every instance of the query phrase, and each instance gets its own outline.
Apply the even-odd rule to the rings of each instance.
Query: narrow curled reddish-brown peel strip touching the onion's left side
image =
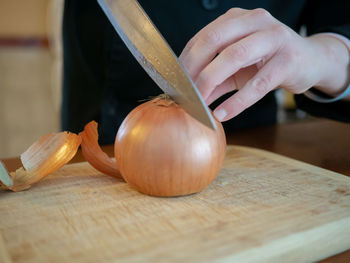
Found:
[[[96,170],[123,179],[117,164],[108,155],[102,151],[98,144],[98,124],[91,121],[85,125],[84,131],[79,133],[82,138],[81,151],[86,161],[91,164]]]

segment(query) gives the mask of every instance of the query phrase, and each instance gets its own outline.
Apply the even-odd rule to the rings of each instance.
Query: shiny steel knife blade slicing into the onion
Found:
[[[155,83],[192,117],[216,129],[195,84],[136,0],[97,0],[130,52]]]

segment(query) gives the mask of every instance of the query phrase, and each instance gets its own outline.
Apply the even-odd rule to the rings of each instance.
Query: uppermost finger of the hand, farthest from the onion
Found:
[[[233,8],[203,28],[189,41],[180,61],[196,80],[199,72],[212,59],[231,43],[275,23],[273,17],[264,9],[252,11]]]

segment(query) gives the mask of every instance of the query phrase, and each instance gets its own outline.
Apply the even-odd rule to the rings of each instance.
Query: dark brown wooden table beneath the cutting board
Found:
[[[265,149],[312,165],[350,176],[350,125],[316,119],[237,131],[227,135],[227,143]],[[113,146],[104,146],[113,155]],[[6,159],[10,167],[18,158]],[[81,153],[72,162],[84,161]],[[350,250],[321,262],[350,262]]]

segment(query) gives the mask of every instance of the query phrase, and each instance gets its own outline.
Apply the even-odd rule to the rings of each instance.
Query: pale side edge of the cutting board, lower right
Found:
[[[232,256],[217,259],[215,262],[279,263],[281,262],[281,257],[283,257],[283,262],[285,263],[316,262],[350,249],[350,238],[338,240],[338,242],[329,242],[339,237],[340,233],[343,236],[350,236],[350,217],[274,240],[268,244],[264,244],[264,246],[254,247]],[[301,241],[305,238],[310,238],[312,241],[306,245],[305,243],[298,242],[298,240]],[[322,244],[322,246],[318,246],[315,251],[315,244]],[[279,251],[278,248],[281,247],[284,248],[282,253],[276,253]],[[291,249],[290,247],[293,248]],[[262,253],[266,249],[271,253]],[[300,250],[304,252],[300,253]]]

